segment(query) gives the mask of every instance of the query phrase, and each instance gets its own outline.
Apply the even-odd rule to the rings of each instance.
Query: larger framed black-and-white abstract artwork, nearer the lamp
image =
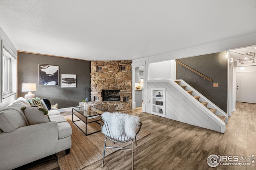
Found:
[[[38,64],[38,86],[58,86],[59,66]]]

